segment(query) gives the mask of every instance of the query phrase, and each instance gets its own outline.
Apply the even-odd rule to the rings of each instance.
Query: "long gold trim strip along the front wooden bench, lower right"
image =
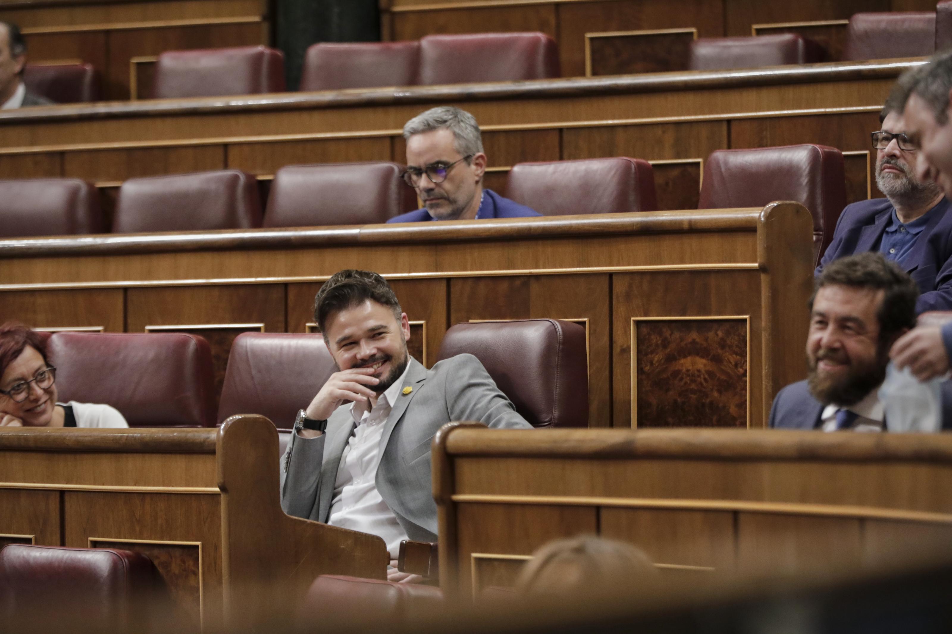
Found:
[[[671,456],[674,459],[675,456]],[[854,519],[896,520],[925,524],[952,524],[952,513],[924,510],[877,509],[847,505],[806,504],[802,502],[747,502],[744,500],[691,500],[637,497],[596,497],[586,495],[497,495],[455,493],[457,504],[525,504],[530,506],[611,507],[619,509],[727,510],[774,515],[812,515]]]

